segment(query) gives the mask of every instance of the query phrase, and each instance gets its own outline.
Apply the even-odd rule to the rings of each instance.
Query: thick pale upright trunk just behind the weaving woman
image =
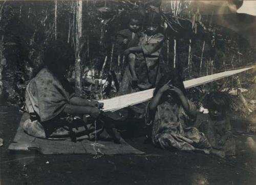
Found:
[[[76,14],[76,61],[75,61],[75,84],[76,94],[81,94],[81,39],[82,39],[82,1],[77,1]]]

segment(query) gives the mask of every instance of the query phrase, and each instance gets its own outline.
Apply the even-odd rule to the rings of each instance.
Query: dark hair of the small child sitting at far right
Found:
[[[220,107],[228,111],[230,109],[230,96],[225,92],[212,92],[206,96],[205,105],[207,109]]]

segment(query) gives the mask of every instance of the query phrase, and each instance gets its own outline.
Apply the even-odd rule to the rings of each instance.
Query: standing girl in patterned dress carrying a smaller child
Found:
[[[124,51],[124,55],[136,54],[136,58],[124,72],[118,95],[154,88],[159,81],[159,56],[164,40],[163,34],[159,33],[160,23],[159,14],[148,13],[145,17],[145,33],[139,45]]]

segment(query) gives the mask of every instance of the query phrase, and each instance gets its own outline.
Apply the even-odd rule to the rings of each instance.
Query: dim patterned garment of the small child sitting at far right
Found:
[[[218,144],[222,136],[226,133],[232,133],[228,118],[217,121],[212,120],[209,114],[200,114],[195,126],[205,134],[214,149],[224,151],[225,155],[236,154],[236,142],[233,137],[227,139],[223,146]]]

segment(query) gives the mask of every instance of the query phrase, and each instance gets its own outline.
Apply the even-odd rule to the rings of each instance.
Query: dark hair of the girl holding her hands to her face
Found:
[[[170,81],[170,82],[169,82]],[[156,86],[156,89],[154,91],[154,96],[157,94],[157,92],[159,91],[159,89],[161,89],[161,87],[163,87],[165,84],[167,84],[169,82],[169,85],[173,85],[177,88],[179,88],[184,95],[186,95],[186,90],[182,81],[181,76],[179,75],[179,73],[175,70],[175,71],[169,71],[166,72],[160,79],[159,83]],[[179,102],[179,97],[176,93],[172,93],[173,99],[177,100],[177,102]]]

